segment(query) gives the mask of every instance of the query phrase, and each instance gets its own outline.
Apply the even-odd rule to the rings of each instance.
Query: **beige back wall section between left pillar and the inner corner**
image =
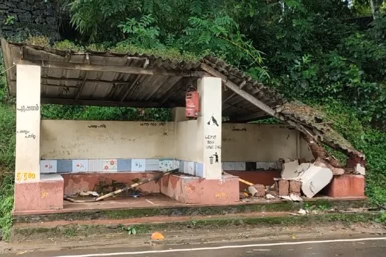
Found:
[[[42,120],[42,159],[174,156],[174,122]]]

